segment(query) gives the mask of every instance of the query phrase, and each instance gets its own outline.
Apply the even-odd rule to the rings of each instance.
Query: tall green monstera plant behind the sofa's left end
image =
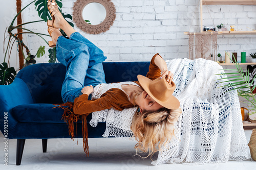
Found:
[[[56,4],[59,7],[59,11],[61,12],[61,7],[62,7],[62,0],[55,0]],[[13,26],[14,21],[17,19],[17,17],[20,15],[20,13],[26,9],[28,6],[30,6],[31,4],[35,5],[35,9],[38,12],[38,16],[42,19],[42,20],[37,20],[37,21],[30,21],[30,22],[26,22],[26,23],[20,23],[17,26]],[[19,37],[20,34],[34,34],[39,36],[40,38],[42,38],[48,45],[48,42],[43,38],[43,36],[49,36],[46,34],[41,34],[41,33],[36,33],[33,32],[29,29],[25,29],[22,26],[25,25],[29,25],[31,23],[35,23],[35,22],[42,22],[42,21],[47,21],[48,19],[51,19],[51,14],[47,8],[47,0],[35,0],[33,2],[31,2],[30,4],[28,4],[26,7],[24,7],[22,10],[20,10],[19,12],[17,12],[17,15],[13,18],[11,25],[8,27],[8,36],[9,38],[7,39],[7,47],[5,50],[5,57],[4,57],[4,62],[2,63],[2,65],[0,66],[0,85],[6,85],[6,84],[10,84],[12,83],[13,79],[16,76],[16,70],[13,67],[8,68],[8,64],[6,63],[6,58],[8,57],[8,63],[10,60],[10,54],[12,51],[12,46],[14,44],[14,42],[18,42],[18,46],[20,51],[22,52],[23,58],[20,59],[20,61],[24,61],[25,59],[25,63],[20,66],[19,69],[22,69],[25,66],[28,66],[30,64],[35,64],[36,60],[35,57],[41,57],[43,55],[45,55],[45,46],[40,45],[40,47],[37,50],[37,53],[35,55],[32,55],[30,53],[30,50],[28,48],[28,46],[24,43],[24,41],[22,40],[22,38]],[[69,18],[72,20],[72,16],[70,14],[64,14],[61,12],[61,14],[63,15],[63,17]],[[72,27],[74,27],[73,23],[68,21],[70,23],[70,25]],[[28,28],[28,27],[27,27]],[[18,31],[18,33],[13,33],[14,30],[22,30],[21,32]],[[67,37],[67,35],[65,34],[65,32],[63,32],[62,30],[60,30],[60,32],[62,33],[63,36]],[[23,49],[26,49],[25,51],[23,51]],[[49,52],[49,62],[56,62],[56,56],[55,56],[55,47],[54,48],[50,48],[48,50]]]

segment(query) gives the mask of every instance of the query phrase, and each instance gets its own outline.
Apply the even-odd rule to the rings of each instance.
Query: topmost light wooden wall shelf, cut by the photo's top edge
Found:
[[[256,0],[203,0],[203,5],[256,5]]]

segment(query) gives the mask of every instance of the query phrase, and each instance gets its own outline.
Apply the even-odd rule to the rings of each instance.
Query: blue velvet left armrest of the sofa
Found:
[[[4,134],[4,120],[8,120],[8,133],[17,124],[12,116],[12,108],[22,104],[34,103],[28,86],[19,78],[15,78],[10,85],[0,86],[0,130]]]

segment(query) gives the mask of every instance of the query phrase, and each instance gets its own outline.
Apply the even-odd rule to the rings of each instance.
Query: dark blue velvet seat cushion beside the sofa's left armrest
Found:
[[[53,104],[24,104],[12,109],[13,117],[24,123],[65,123],[61,120],[63,109]]]

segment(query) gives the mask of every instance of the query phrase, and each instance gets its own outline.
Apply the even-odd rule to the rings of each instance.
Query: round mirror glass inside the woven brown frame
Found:
[[[90,3],[83,8],[82,17],[87,23],[98,25],[105,19],[106,9],[100,3]]]

